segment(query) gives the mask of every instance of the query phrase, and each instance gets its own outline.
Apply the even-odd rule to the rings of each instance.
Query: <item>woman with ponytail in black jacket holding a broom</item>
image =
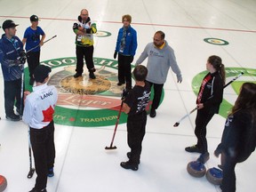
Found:
[[[219,113],[223,98],[223,85],[225,84],[225,68],[219,56],[212,55],[206,62],[209,73],[204,76],[196,99],[196,128],[197,143],[185,148],[186,151],[201,153],[197,161],[202,164],[208,161],[210,155],[206,140],[206,126],[214,114]]]

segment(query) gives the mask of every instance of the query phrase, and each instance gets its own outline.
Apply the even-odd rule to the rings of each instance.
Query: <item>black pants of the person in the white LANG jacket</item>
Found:
[[[37,174],[35,188],[43,189],[46,188],[48,170],[53,167],[55,159],[53,121],[42,129],[30,127],[30,142]]]

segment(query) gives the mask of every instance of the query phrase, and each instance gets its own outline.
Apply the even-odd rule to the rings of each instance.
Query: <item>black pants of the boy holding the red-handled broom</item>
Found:
[[[128,116],[127,119],[127,141],[131,148],[130,162],[132,164],[140,163],[140,154],[142,150],[142,140],[145,135],[147,124],[146,111],[134,116]]]

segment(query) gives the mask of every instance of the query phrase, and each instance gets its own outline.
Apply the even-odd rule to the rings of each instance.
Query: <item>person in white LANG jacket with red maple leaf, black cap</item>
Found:
[[[36,166],[36,185],[30,192],[46,192],[47,176],[54,175],[54,108],[58,100],[57,89],[47,85],[51,68],[39,65],[34,71],[36,86],[25,100],[22,120],[28,124],[30,142]]]

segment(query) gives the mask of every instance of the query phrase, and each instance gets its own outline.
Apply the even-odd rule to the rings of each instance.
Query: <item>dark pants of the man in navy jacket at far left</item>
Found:
[[[14,81],[4,81],[4,108],[6,116],[12,116],[14,114],[14,104],[16,108],[20,108],[20,92],[21,78]],[[21,109],[22,108],[23,102]]]

